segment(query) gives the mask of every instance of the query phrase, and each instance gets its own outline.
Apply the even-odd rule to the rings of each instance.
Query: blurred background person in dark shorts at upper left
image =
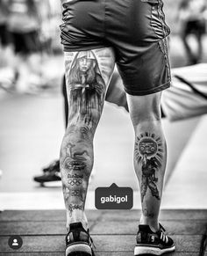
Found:
[[[7,26],[14,50],[12,66],[18,73],[17,90],[30,91],[32,86],[43,83],[42,46],[46,41],[43,25],[50,5],[47,0],[8,0],[7,7]]]

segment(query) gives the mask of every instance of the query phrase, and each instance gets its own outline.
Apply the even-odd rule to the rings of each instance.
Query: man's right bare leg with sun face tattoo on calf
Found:
[[[161,92],[146,96],[127,94],[127,100],[135,131],[134,168],[142,205],[140,224],[157,231],[167,159],[161,127]]]

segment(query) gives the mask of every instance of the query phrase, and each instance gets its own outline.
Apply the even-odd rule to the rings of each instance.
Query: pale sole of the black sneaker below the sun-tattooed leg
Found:
[[[135,256],[142,255],[142,254],[161,255],[163,253],[174,252],[174,251],[175,251],[175,245],[166,249],[160,249],[156,247],[147,247],[147,246],[136,246],[134,248],[134,255]]]

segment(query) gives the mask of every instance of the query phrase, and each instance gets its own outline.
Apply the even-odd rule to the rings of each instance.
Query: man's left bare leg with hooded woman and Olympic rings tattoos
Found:
[[[65,64],[68,127],[60,161],[67,228],[70,223],[81,222],[87,229],[84,207],[94,162],[93,138],[114,69],[114,55],[111,48],[69,52],[65,53]]]

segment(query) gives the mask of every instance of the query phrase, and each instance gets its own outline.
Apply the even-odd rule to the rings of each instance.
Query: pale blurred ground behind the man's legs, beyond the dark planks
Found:
[[[172,39],[173,66],[183,63],[179,40]],[[175,44],[177,43],[177,44]],[[182,53],[182,51],[180,51]],[[203,61],[206,60],[206,54]],[[180,61],[179,61],[180,58]],[[57,67],[63,72],[62,65]],[[56,70],[57,71],[57,70]],[[0,89],[1,90],[1,89]],[[64,134],[61,88],[36,95],[0,91],[0,208],[63,209],[61,187],[39,187],[33,180],[59,156]],[[207,116],[163,121],[168,165],[161,208],[207,208]],[[133,129],[128,113],[105,104],[95,137],[95,173],[86,207],[94,209],[96,187],[132,187],[133,208],[140,208],[132,166]]]

